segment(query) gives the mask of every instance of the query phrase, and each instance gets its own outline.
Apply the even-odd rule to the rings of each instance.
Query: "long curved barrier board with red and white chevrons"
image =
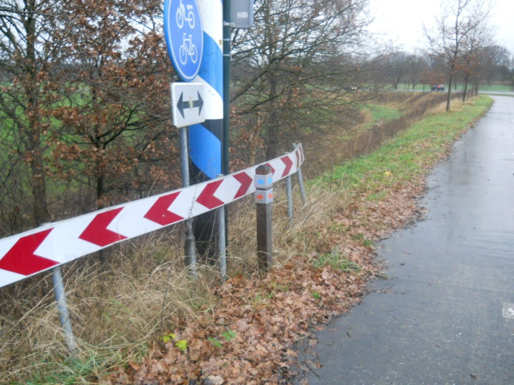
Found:
[[[294,174],[303,160],[298,144],[292,152],[262,164],[271,167],[277,182]],[[0,287],[252,194],[258,166],[1,239]]]

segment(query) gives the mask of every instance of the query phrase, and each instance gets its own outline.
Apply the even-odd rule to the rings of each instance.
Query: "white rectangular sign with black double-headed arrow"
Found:
[[[171,110],[176,127],[205,122],[204,84],[172,83]]]

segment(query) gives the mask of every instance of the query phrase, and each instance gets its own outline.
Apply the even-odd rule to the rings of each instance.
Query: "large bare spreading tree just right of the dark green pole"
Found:
[[[259,127],[253,134],[266,157],[302,130],[319,129],[315,122],[333,117],[344,94],[360,97],[353,89],[363,83],[365,6],[366,0],[257,0],[254,27],[234,34],[231,103],[240,119]]]

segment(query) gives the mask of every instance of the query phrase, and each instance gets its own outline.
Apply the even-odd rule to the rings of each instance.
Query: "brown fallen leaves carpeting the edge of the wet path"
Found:
[[[163,349],[152,348],[142,363],[128,362],[106,381],[112,385],[287,383],[288,365],[296,357],[293,344],[358,302],[366,281],[379,274],[369,240],[408,223],[417,210],[414,197],[423,189],[422,184],[416,186],[390,189],[379,202],[356,197],[332,218],[337,226],[320,228],[315,251],[293,256],[262,279],[243,275],[228,279],[215,290],[219,301],[210,315],[188,319],[187,326],[168,335]],[[335,247],[359,268],[313,265]]]

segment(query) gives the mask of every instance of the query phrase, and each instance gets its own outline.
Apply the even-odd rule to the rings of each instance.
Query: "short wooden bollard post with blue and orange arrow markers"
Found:
[[[257,262],[267,272],[273,264],[273,174],[271,167],[261,165],[255,169],[255,202],[257,203]]]

